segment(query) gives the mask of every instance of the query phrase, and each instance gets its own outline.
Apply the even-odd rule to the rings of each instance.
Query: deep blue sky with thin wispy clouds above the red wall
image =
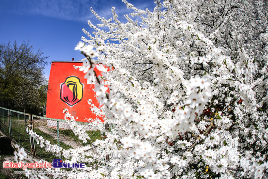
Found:
[[[154,0],[128,0],[139,9],[153,10]],[[132,12],[121,0],[0,0],[0,43],[17,44],[28,41],[34,50],[41,49],[47,59],[45,76],[49,77],[50,61],[75,61],[83,56],[75,51],[76,44],[85,36],[82,29],[92,32],[87,20],[98,20],[90,7],[101,17],[112,17],[115,7],[118,19]]]

